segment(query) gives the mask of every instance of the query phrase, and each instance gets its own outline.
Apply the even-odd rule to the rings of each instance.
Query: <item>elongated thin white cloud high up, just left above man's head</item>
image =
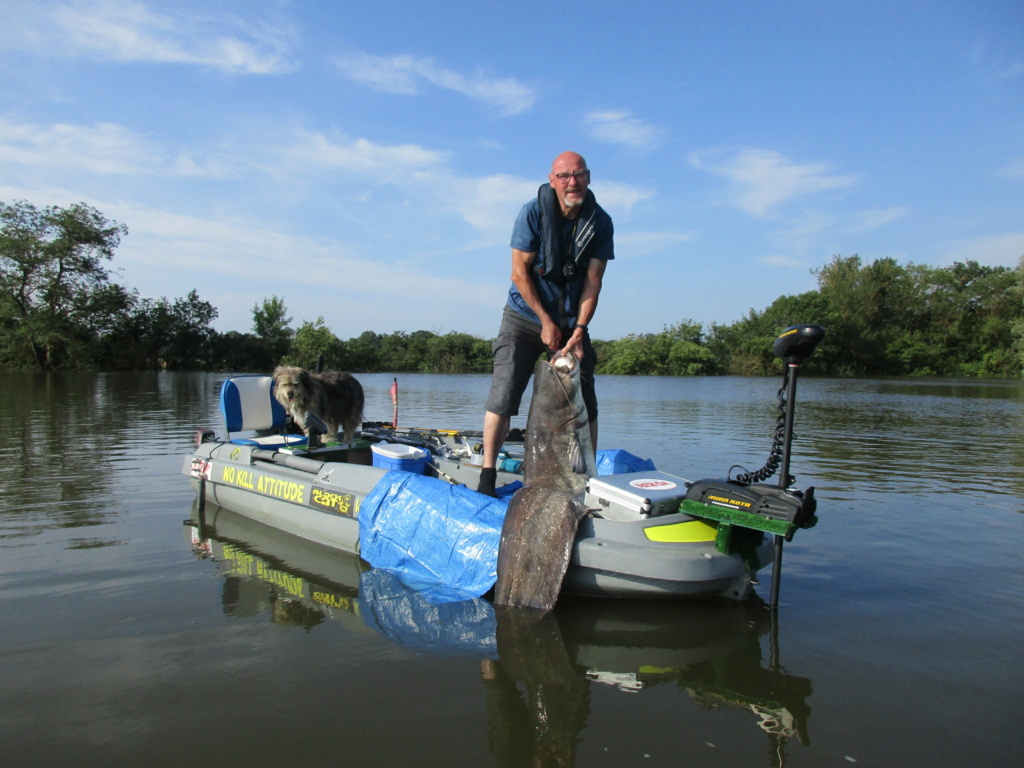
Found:
[[[356,53],[336,59],[338,69],[356,83],[387,93],[413,94],[421,82],[462,93],[497,109],[502,115],[519,115],[534,105],[534,90],[514,78],[493,78],[482,72],[464,75],[439,67],[429,56],[374,56]]]

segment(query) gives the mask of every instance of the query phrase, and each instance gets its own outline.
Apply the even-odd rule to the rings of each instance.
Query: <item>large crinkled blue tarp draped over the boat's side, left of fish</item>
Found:
[[[359,506],[359,555],[431,602],[479,597],[498,579],[507,499],[392,470]]]

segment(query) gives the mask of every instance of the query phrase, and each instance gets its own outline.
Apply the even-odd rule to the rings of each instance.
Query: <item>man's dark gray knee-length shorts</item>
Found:
[[[495,373],[490,378],[490,393],[485,409],[499,416],[518,416],[522,393],[526,391],[529,377],[534,375],[537,360],[550,350],[541,341],[541,327],[523,317],[509,306],[502,313],[498,338],[490,345],[495,355]],[[580,383],[583,401],[591,421],[597,421],[597,394],[594,391],[594,369],[597,354],[584,335],[584,357]]]

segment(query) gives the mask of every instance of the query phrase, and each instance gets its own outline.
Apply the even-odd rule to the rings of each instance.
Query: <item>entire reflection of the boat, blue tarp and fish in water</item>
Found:
[[[758,597],[685,604],[565,598],[538,616],[483,599],[430,602],[394,574],[215,505],[190,520],[197,554],[218,562],[232,615],[311,630],[338,621],[406,649],[480,658],[490,748],[502,760],[571,765],[591,686],[677,685],[698,706],[750,711],[773,765],[808,743],[811,681],[781,670],[775,613]],[[768,636],[769,658],[762,638]]]

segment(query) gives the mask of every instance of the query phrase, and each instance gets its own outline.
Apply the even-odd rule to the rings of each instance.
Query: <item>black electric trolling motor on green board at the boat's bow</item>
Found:
[[[778,421],[768,462],[756,472],[742,472],[725,479],[705,479],[689,483],[681,512],[718,520],[720,525],[738,525],[775,535],[771,607],[778,604],[778,582],[782,560],[782,541],[792,541],[797,528],[809,528],[817,522],[814,488],[791,487],[796,478],[790,474],[793,442],[793,412],[797,396],[797,369],[814,353],[825,336],[821,326],[800,325],[785,329],[772,345],[772,351],[785,364],[782,386],[778,390]],[[764,483],[779,469],[778,484]]]

